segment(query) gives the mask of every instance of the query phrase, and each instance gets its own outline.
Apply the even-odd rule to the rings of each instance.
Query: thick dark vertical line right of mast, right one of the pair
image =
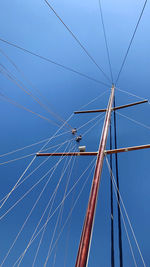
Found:
[[[114,96],[114,108],[115,108],[115,96]],[[115,149],[117,149],[117,125],[116,125],[116,112],[114,110],[114,137],[115,137]],[[115,166],[116,166],[116,180],[117,187],[119,190],[119,172],[118,172],[118,154],[115,153]],[[121,217],[120,217],[120,195],[117,192],[118,197],[118,233],[119,233],[119,259],[120,259],[120,267],[123,267],[123,252],[122,252],[122,229],[121,229]]]

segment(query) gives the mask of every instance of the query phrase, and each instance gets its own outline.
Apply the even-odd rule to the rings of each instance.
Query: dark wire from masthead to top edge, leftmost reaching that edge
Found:
[[[58,13],[54,10],[54,8],[51,6],[51,4],[47,0],[43,0],[47,6],[51,9],[51,11],[55,14],[55,16],[59,19],[59,21],[64,25],[64,27],[67,29],[67,31],[71,34],[71,36],[75,39],[75,41],[79,44],[79,46],[83,49],[83,51],[86,53],[86,55],[91,59],[91,61],[97,66],[97,68],[103,73],[105,78],[110,81],[107,74],[103,71],[103,69],[96,63],[95,59],[90,55],[90,53],[87,51],[87,49],[83,46],[83,44],[79,41],[79,39],[75,36],[75,34],[70,30],[70,28],[64,23],[64,21],[60,18]]]

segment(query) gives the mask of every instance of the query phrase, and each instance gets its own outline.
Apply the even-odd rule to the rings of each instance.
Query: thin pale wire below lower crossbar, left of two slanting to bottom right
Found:
[[[132,248],[132,244],[131,244],[131,241],[130,241],[130,238],[129,238],[129,233],[128,233],[128,230],[127,230],[127,226],[126,226],[126,223],[125,223],[125,219],[124,219],[122,210],[121,210],[121,205],[120,205],[120,203],[118,202],[117,190],[116,190],[116,188],[115,188],[115,183],[114,183],[115,178],[114,178],[114,175],[113,175],[113,173],[112,173],[112,169],[111,169],[111,167],[110,167],[110,165],[109,165],[109,162],[108,162],[107,157],[106,157],[106,163],[107,163],[107,167],[108,167],[108,170],[109,170],[109,173],[110,173],[110,176],[111,176],[111,181],[112,181],[113,189],[114,189],[114,192],[115,192],[116,200],[117,200],[117,203],[118,203],[118,205],[119,205],[120,214],[121,214],[122,221],[123,221],[123,225],[124,225],[124,228],[125,228],[125,231],[126,231],[126,235],[127,235],[127,239],[128,239],[128,243],[129,243],[129,247],[130,247],[131,255],[132,255],[132,257],[133,257],[134,265],[135,265],[135,267],[137,267],[137,263],[136,263],[135,256],[134,256],[134,252],[133,252],[133,248]]]

